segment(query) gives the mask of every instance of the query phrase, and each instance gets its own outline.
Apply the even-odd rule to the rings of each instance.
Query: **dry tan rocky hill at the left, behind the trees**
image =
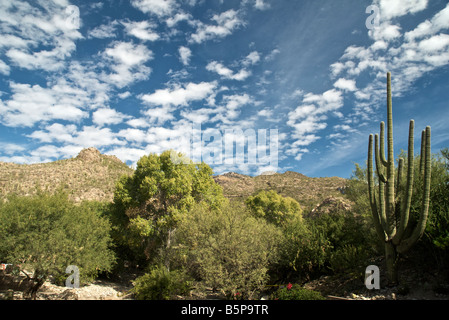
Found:
[[[31,195],[37,188],[55,191],[62,187],[72,200],[112,201],[115,182],[133,169],[115,156],[87,148],[75,158],[38,164],[0,162],[0,196]]]

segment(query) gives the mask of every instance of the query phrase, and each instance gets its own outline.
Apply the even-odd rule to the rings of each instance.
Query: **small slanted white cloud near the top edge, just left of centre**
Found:
[[[197,21],[197,29],[190,37],[190,42],[202,43],[206,40],[224,38],[244,23],[239,18],[238,12],[231,9],[211,18],[216,24],[207,25]]]

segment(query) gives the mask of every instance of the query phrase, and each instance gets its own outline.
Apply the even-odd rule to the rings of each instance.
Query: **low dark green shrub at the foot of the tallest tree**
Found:
[[[185,272],[157,266],[138,277],[131,292],[137,300],[171,300],[188,294],[190,289],[191,281]]]

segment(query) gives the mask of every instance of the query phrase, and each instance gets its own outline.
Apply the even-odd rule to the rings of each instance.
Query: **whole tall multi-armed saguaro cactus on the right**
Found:
[[[412,232],[405,232],[409,224],[410,205],[414,179],[414,131],[415,122],[410,120],[408,140],[407,180],[401,184],[404,159],[399,159],[395,181],[393,152],[393,108],[391,99],[391,74],[387,73],[387,158],[385,158],[385,123],[380,123],[379,135],[371,134],[368,143],[368,190],[374,226],[380,239],[385,242],[387,278],[390,285],[398,283],[398,255],[406,252],[424,233],[429,211],[430,196],[430,127],[421,136],[420,174],[424,175],[422,207],[419,220]],[[373,179],[373,140],[378,191]],[[406,236],[407,235],[407,236]]]

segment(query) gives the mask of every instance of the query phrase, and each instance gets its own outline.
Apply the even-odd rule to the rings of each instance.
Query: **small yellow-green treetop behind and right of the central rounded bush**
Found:
[[[245,201],[249,211],[275,225],[285,225],[293,219],[302,219],[299,203],[290,197],[283,197],[274,190],[262,190]]]

